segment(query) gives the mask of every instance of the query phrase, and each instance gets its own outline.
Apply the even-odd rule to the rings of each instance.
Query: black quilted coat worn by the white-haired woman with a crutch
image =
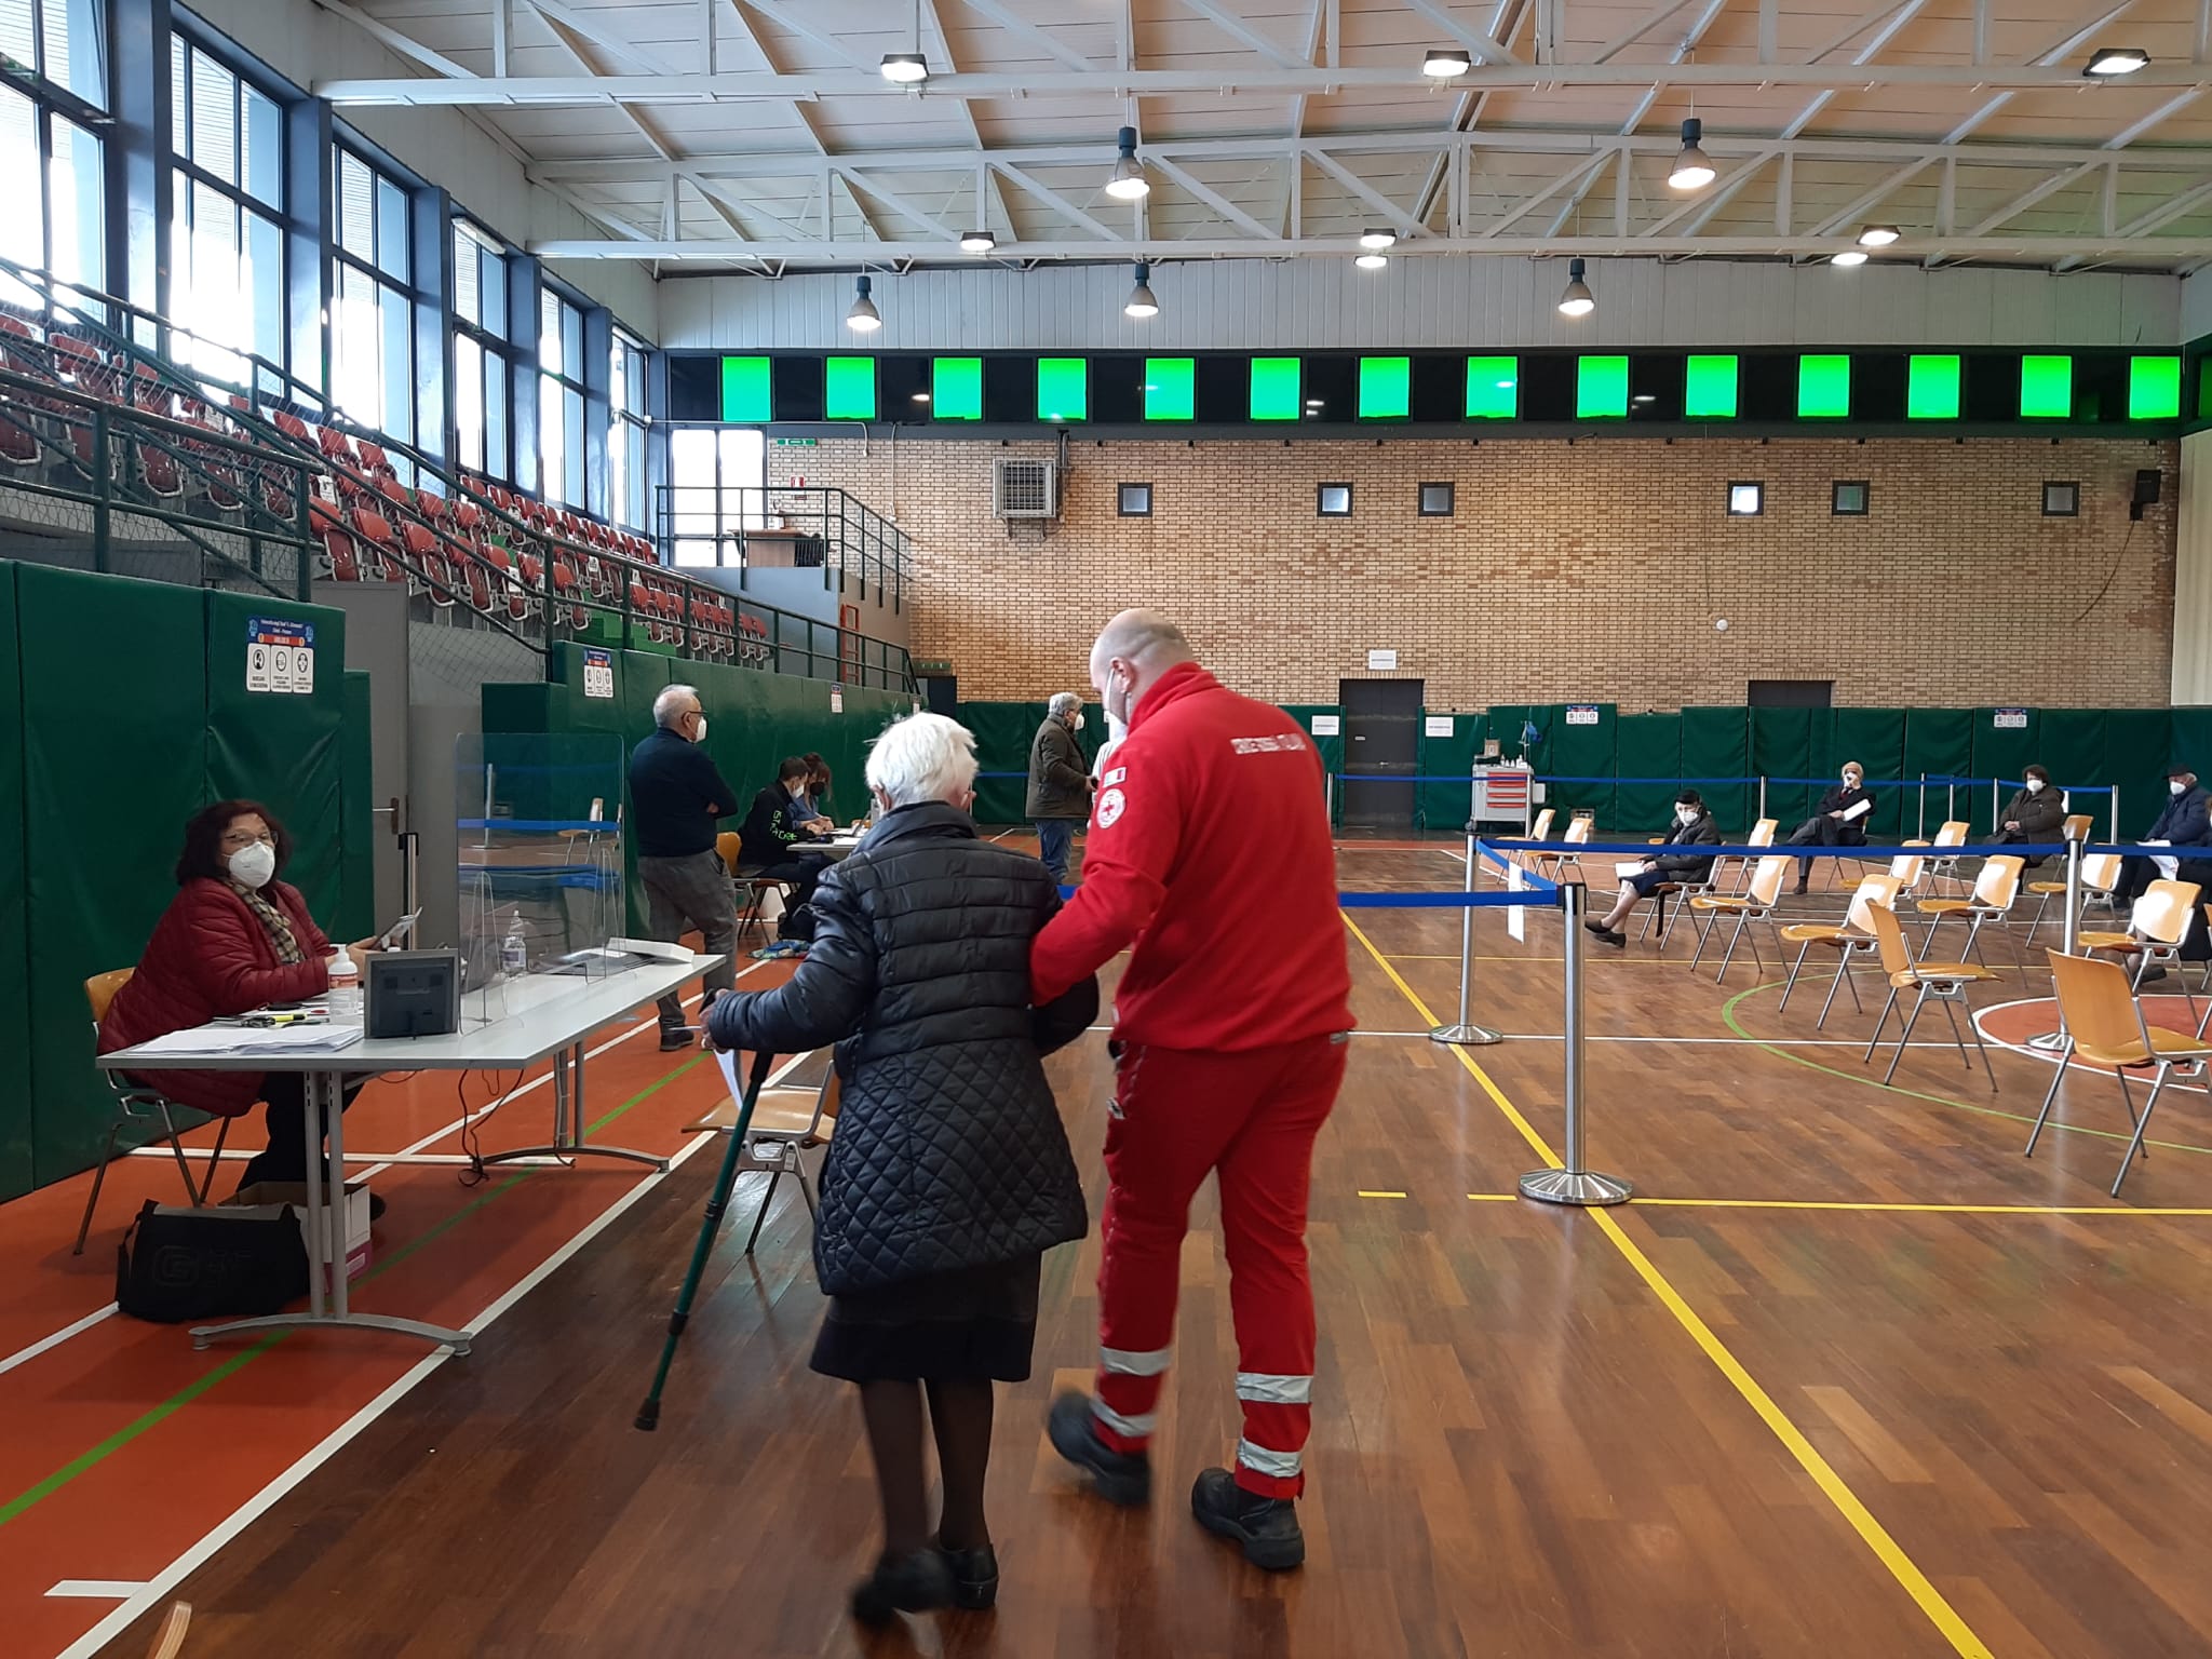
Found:
[[[898,807],[814,889],[799,973],[708,1011],[721,1048],[838,1044],[814,1228],[832,1296],[1084,1237],[1042,1055],[1097,1015],[1097,980],[1029,1006],[1029,942],[1057,907],[1044,865],[978,841],[958,807]]]

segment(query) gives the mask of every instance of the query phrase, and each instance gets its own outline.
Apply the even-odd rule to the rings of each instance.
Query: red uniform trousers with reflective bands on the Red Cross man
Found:
[[[1099,1440],[1144,1451],[1175,1356],[1175,1296],[1190,1199],[1214,1172],[1237,1318],[1243,1440],[1237,1484],[1265,1498],[1305,1491],[1314,1398],[1314,1287],[1305,1192],[1345,1077],[1345,1037],[1245,1053],[1133,1044],[1115,1066],[1099,1228]]]

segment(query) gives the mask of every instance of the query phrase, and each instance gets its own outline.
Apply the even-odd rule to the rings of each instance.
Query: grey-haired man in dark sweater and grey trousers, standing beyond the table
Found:
[[[714,821],[737,812],[737,790],[723,783],[706,743],[706,710],[690,686],[670,686],[653,699],[655,732],[630,750],[630,834],[637,836],[637,878],[646,885],[653,938],[681,940],[699,929],[708,956],[706,1004],[737,982],[737,909],[730,872],[714,852]],[[675,991],[661,998],[661,1048],[684,1048],[699,1037],[684,1022]]]

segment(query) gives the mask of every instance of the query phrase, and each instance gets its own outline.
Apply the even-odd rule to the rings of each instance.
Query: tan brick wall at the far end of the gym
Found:
[[[1334,703],[1398,650],[1431,708],[1741,703],[1747,679],[1834,679],[1860,706],[2163,706],[2172,650],[2172,445],[2143,440],[1071,442],[1062,518],[991,518],[991,460],[1051,442],[823,440],[770,449],[891,511],[914,538],[914,655],[962,697],[1086,684],[1099,622],[1179,617],[1234,686]],[[2166,473],[2135,526],[2139,467]],[[1829,484],[1869,480],[1867,518]],[[1119,482],[1152,518],[1117,518]],[[1728,518],[1732,480],[1765,513]],[[2044,518],[2044,480],[2081,484]],[[1349,482],[1354,515],[1314,513]],[[1418,518],[1422,482],[1453,518]],[[2101,597],[2099,597],[2101,591]],[[2084,615],[2086,613],[2086,615]],[[1728,619],[1719,630],[1717,619]]]

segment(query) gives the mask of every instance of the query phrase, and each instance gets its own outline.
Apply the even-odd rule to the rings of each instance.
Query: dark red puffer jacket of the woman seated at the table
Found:
[[[301,1002],[330,989],[330,940],[307,916],[296,887],[270,883],[270,900],[292,920],[292,936],[307,960],[285,967],[261,918],[223,880],[188,880],[170,900],[146,942],[137,973],[115,993],[100,1022],[100,1053],[190,1031],[230,1013],[270,1002]],[[157,1071],[139,1073],[181,1106],[237,1117],[261,1099],[261,1073]]]

